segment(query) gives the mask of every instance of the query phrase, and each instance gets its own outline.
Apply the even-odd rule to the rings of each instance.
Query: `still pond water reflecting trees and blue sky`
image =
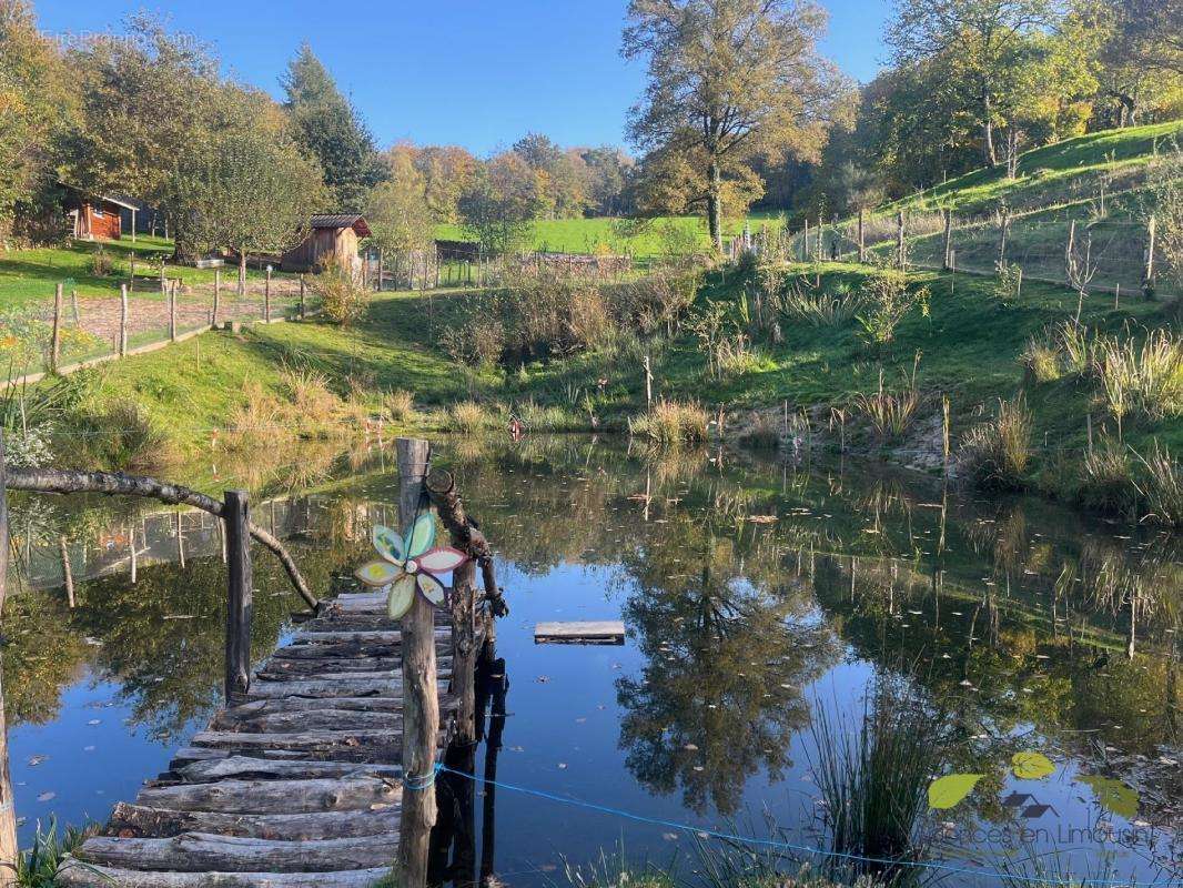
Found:
[[[444,442],[437,461],[512,609],[476,753],[496,783],[476,786],[476,860],[448,880],[565,883],[618,856],[693,879],[743,849],[849,876],[859,864],[801,849],[853,847],[835,845],[827,761],[860,736],[919,776],[913,881],[1183,879],[1177,535],[859,461],[575,436]],[[392,463],[371,450],[256,480],[256,521],[315,588],[345,587],[397,511]],[[203,726],[225,575],[196,513],[12,498],[2,657],[24,847],[38,823],[105,819]],[[299,601],[265,553],[256,565],[261,658]],[[622,620],[625,644],[534,641],[538,622],[583,619]],[[942,774],[961,777],[930,797]]]

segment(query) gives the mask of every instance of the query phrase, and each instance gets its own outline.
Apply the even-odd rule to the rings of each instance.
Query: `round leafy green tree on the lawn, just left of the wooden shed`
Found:
[[[244,98],[257,107],[254,126],[219,134],[185,170],[205,184],[193,205],[194,240],[238,255],[239,295],[247,255],[298,244],[324,202],[321,167],[300,153],[282,114],[261,96]]]

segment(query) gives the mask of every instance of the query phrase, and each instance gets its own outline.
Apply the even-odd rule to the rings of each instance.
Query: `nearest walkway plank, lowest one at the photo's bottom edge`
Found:
[[[60,888],[370,888],[389,868],[336,873],[140,873],[84,867],[67,860],[57,875]]]

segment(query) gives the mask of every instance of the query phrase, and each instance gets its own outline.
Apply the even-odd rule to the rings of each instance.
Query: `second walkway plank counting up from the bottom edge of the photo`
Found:
[[[93,836],[75,851],[88,863],[179,873],[321,873],[390,863],[397,832],[309,842],[182,832],[172,838]]]

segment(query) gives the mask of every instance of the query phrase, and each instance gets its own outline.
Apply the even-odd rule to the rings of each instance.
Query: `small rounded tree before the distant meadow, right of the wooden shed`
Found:
[[[502,255],[525,245],[542,200],[530,166],[516,152],[505,152],[481,165],[458,206],[481,249]]]

